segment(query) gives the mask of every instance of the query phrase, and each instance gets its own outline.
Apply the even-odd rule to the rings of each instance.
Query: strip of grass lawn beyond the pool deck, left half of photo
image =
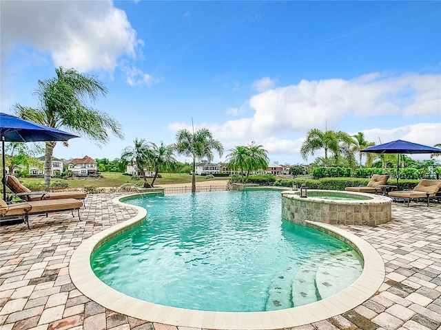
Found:
[[[122,175],[121,173],[110,173],[103,172],[103,179],[52,179],[51,182],[54,181],[63,181],[68,182],[68,188],[83,188],[83,187],[119,187],[121,184],[125,184],[130,182],[132,184],[136,184],[139,181],[131,180],[128,175]],[[162,178],[157,178],[154,182],[155,186],[160,186],[161,184],[185,184],[187,182],[192,181],[192,175],[189,174],[181,174],[181,173],[161,173]],[[211,180],[227,180],[229,177],[215,177]],[[43,183],[44,179],[42,178],[31,178],[31,177],[21,177],[20,181],[25,186],[32,186],[32,184]],[[147,178],[147,181],[152,182],[151,178]],[[205,181],[205,177],[201,177],[196,175],[196,181]]]

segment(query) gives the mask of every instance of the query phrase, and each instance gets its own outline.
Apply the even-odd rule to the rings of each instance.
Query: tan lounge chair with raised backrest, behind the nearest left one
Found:
[[[14,195],[24,199],[25,201],[41,201],[45,199],[79,199],[83,202],[85,207],[84,199],[85,192],[82,191],[63,191],[63,192],[47,192],[47,191],[30,191],[28,188],[23,186],[17,177],[13,175],[6,175],[5,177],[6,186],[14,193]]]

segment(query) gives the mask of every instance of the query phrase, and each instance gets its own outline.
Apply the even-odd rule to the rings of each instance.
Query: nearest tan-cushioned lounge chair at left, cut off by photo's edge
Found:
[[[72,217],[74,217],[74,210],[78,212],[78,219],[80,218],[80,208],[83,203],[78,199],[54,199],[42,201],[23,201],[18,203],[6,203],[3,199],[0,199],[0,221],[10,219],[22,219],[24,223],[29,227],[29,216],[32,214],[46,214],[50,212],[60,211],[72,211]]]

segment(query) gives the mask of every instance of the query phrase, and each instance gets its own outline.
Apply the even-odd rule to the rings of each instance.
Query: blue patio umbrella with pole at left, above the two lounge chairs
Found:
[[[79,136],[0,112],[0,139],[3,151],[3,199],[6,199],[5,142],[68,141],[73,137]]]

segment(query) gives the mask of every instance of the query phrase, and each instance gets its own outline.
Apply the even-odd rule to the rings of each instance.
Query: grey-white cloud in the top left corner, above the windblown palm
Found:
[[[55,66],[112,71],[120,56],[136,58],[141,39],[112,1],[2,1],[2,62],[14,47],[49,52]]]

